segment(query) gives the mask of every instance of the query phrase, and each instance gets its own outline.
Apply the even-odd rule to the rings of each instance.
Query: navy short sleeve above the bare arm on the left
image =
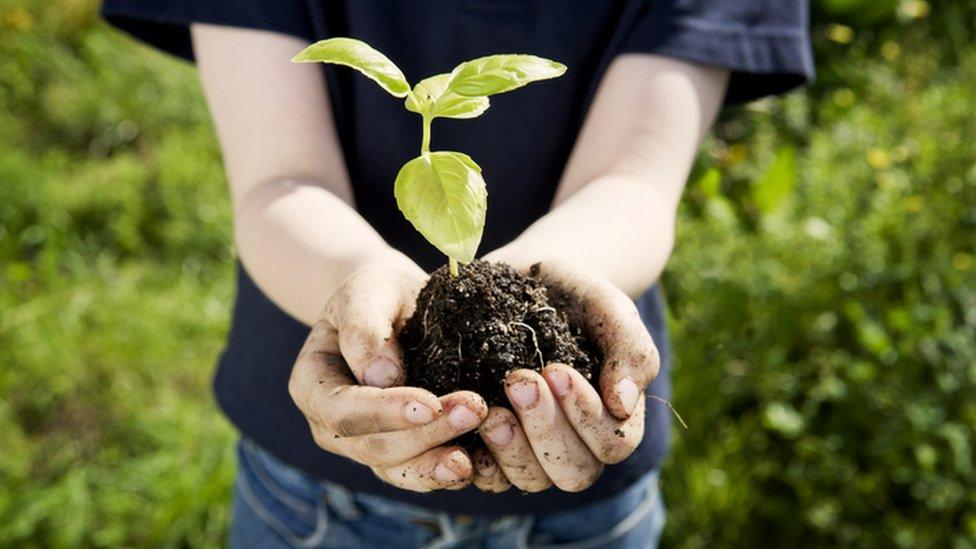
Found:
[[[163,51],[193,60],[190,23],[265,30],[309,41],[308,5],[300,0],[104,0],[111,25]]]

